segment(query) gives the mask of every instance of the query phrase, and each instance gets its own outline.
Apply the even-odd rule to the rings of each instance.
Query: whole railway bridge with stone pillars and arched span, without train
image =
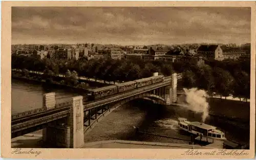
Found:
[[[79,148],[98,122],[113,110],[137,98],[150,99],[157,104],[177,101],[177,80],[182,74],[174,73],[167,81],[136,88],[95,101],[82,96],[55,104],[55,93],[44,94],[43,107],[12,115],[11,137],[17,137],[43,129],[42,139],[47,144],[63,148]]]

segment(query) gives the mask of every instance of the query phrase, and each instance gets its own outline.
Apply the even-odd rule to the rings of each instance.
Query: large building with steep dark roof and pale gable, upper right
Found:
[[[218,61],[224,59],[223,51],[219,45],[201,45],[197,53],[205,58],[214,58]]]

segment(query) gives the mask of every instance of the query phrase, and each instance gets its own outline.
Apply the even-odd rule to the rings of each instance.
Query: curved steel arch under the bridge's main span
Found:
[[[110,104],[110,107],[108,109],[106,109],[103,113],[101,113],[100,115],[97,115],[97,119],[94,119],[93,122],[91,122],[90,126],[84,126],[83,132],[84,134],[88,134],[100,121],[102,121],[102,119],[104,119],[104,117],[108,116],[112,111],[114,111],[115,109],[117,109],[118,107],[133,101],[134,99],[147,99],[147,100],[153,100],[153,103],[157,103],[157,104],[161,104],[161,105],[165,105],[166,101],[163,97],[159,96],[159,95],[155,95],[152,93],[141,93],[138,95],[134,95],[132,96],[133,98],[129,97],[126,99],[122,99],[119,102],[114,102],[113,104]]]

